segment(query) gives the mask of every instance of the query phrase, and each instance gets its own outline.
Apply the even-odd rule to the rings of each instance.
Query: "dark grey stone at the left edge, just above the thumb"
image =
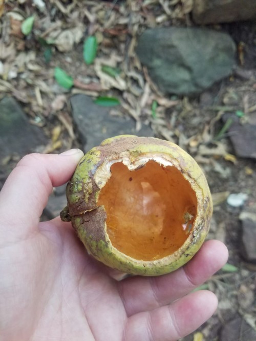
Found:
[[[28,117],[12,97],[0,101],[0,187],[15,164],[8,162],[14,157],[19,160],[24,155],[37,152],[47,145],[42,130],[29,123]],[[2,179],[2,181],[1,181]]]

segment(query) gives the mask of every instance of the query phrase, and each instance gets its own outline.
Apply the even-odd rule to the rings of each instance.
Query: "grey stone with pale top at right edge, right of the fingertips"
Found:
[[[256,262],[256,214],[242,212],[240,220],[242,221],[241,253],[247,262]]]

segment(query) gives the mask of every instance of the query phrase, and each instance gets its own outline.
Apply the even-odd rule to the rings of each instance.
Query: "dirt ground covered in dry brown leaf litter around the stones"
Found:
[[[232,207],[226,202],[228,193],[247,194],[245,207],[255,212],[255,160],[236,156],[228,131],[216,140],[224,124],[224,113],[242,111],[245,119],[248,112],[256,114],[255,24],[215,27],[229,32],[236,41],[238,69],[200,96],[182,98],[161,94],[134,52],[138,35],[147,27],[193,25],[182,2],[170,2],[173,4],[168,7],[170,13],[162,1],[143,5],[135,0],[115,3],[52,0],[45,2],[46,8],[41,10],[33,4],[6,2],[0,19],[3,61],[0,97],[15,97],[30,122],[44,130],[51,141],[44,153],[60,153],[80,146],[68,99],[74,93],[86,93],[118,98],[121,105],[113,109],[113,115],[117,111],[119,115],[130,115],[138,127],[141,122],[150,124],[155,136],[174,141],[195,157],[204,169],[215,201],[208,238],[220,239],[227,245],[228,263],[235,266],[232,272],[220,271],[204,286],[218,295],[220,304],[217,313],[200,329],[203,336],[200,340],[223,339],[223,327],[238,316],[256,330],[256,264],[246,262],[241,255],[239,215],[243,207]],[[35,16],[33,30],[25,36],[21,24],[31,15]],[[65,30],[69,37],[62,37],[57,44],[57,37]],[[99,47],[95,62],[87,66],[82,46],[89,35],[97,37]],[[120,79],[114,85],[98,67],[102,64],[121,69]],[[58,86],[55,67],[76,80],[72,89],[65,91]],[[156,115],[152,111],[154,100],[158,102]],[[185,339],[195,341],[198,337],[195,335]],[[232,340],[248,341],[243,333]]]

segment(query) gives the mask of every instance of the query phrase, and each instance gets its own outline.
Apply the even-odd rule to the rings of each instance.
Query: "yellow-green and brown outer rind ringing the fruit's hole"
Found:
[[[197,216],[185,243],[173,254],[155,261],[139,261],[120,252],[111,244],[106,233],[106,212],[97,206],[104,174],[104,165],[110,160],[129,158],[135,162],[145,157],[162,157],[180,169],[197,196]],[[98,173],[97,173],[98,172]],[[110,174],[109,174],[110,177]],[[103,185],[102,185],[103,183]],[[139,275],[161,275],[172,272],[187,263],[201,247],[210,226],[212,200],[205,176],[196,161],[178,145],[153,137],[120,135],[104,140],[92,148],[77,165],[67,186],[68,206],[60,216],[70,221],[78,237],[97,260],[116,270]]]

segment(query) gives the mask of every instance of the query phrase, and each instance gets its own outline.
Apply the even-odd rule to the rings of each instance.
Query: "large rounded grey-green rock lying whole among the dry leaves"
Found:
[[[136,52],[162,92],[193,95],[231,73],[236,46],[223,32],[169,27],[146,30]]]

